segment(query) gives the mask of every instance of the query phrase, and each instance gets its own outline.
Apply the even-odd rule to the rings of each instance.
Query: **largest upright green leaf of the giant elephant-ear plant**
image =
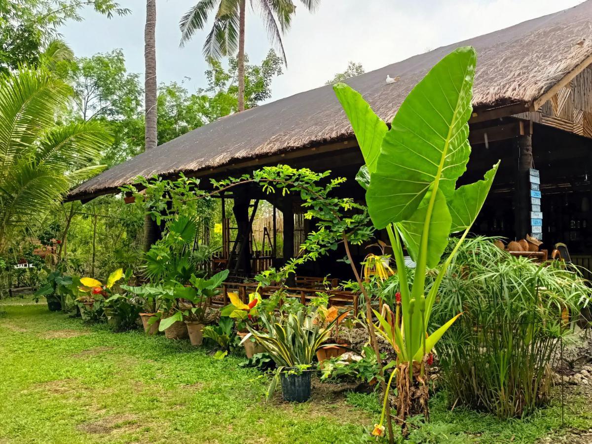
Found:
[[[366,202],[374,226],[409,220],[432,183],[446,200],[466,170],[477,54],[462,47],[411,90],[382,140]]]

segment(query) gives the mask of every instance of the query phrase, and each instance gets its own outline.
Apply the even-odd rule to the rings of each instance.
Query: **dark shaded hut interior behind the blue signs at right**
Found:
[[[572,259],[574,256],[580,260],[592,258],[592,141],[540,124],[533,125],[531,140],[531,167],[538,170],[540,180],[543,242],[540,248],[551,253],[556,243],[564,243]],[[472,147],[471,160],[462,182],[477,180],[479,174],[501,159],[494,186],[475,223],[474,233],[500,236],[506,241],[531,234],[523,233],[519,223],[520,218],[530,218],[532,211],[529,173],[520,168],[521,156],[519,137]],[[526,200],[520,200],[521,194]],[[529,208],[523,208],[525,202]]]

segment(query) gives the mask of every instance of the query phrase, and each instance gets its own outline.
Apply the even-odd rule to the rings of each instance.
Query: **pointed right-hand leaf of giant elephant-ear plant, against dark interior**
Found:
[[[491,184],[493,184],[493,178],[496,176],[498,166],[500,166],[500,162],[497,162],[493,168],[485,173],[482,181],[463,185],[456,189],[452,200],[448,202],[452,216],[451,233],[464,231],[475,222],[489,193]]]

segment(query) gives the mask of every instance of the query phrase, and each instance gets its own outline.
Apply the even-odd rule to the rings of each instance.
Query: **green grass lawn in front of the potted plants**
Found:
[[[112,333],[26,302],[0,304],[0,442],[357,443],[377,420],[374,395],[324,385],[308,403],[265,404],[268,380],[240,357],[217,361],[206,348]],[[587,429],[589,400],[572,397],[566,418]],[[556,405],[500,422],[450,412],[438,395],[432,423],[416,433],[419,442],[532,443],[559,424]]]

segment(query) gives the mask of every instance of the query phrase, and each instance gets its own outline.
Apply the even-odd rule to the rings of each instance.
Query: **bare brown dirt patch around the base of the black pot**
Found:
[[[311,381],[310,401],[298,404],[284,401],[281,387],[278,384],[272,403],[274,406],[290,413],[301,413],[307,418],[328,417],[337,420],[340,424],[367,425],[371,420],[368,414],[355,409],[346,401],[345,394],[355,387],[356,384],[332,384],[320,382],[317,378],[313,378]]]

